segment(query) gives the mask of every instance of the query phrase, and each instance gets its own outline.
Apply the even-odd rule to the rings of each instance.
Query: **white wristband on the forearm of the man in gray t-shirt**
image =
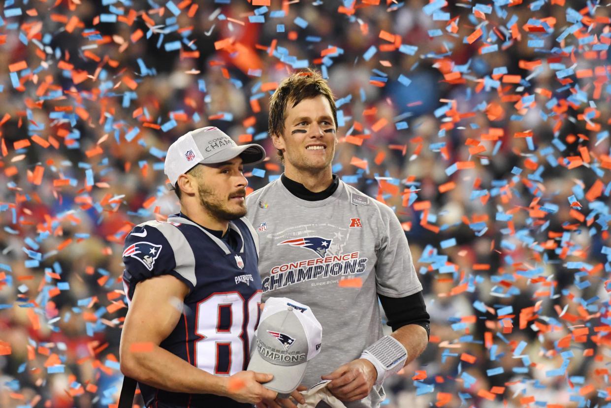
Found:
[[[366,348],[360,358],[368,360],[376,368],[378,379],[375,385],[380,387],[385,379],[403,368],[408,351],[395,338],[384,336]]]

